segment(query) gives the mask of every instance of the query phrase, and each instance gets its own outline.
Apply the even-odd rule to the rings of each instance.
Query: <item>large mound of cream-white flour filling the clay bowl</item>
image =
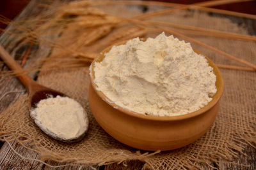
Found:
[[[216,76],[189,43],[164,32],[113,46],[95,62],[95,84],[111,101],[145,115],[184,115],[204,107],[216,93]]]

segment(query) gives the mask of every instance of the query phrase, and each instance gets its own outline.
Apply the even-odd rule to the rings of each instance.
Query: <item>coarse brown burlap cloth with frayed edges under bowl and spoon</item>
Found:
[[[208,15],[197,11],[180,11],[158,20],[195,25],[221,31],[248,34],[244,25],[219,15]],[[255,21],[254,21],[255,22]],[[158,34],[159,32],[156,32]],[[224,38],[193,36],[208,45],[256,64],[256,43]],[[193,45],[216,64],[243,66],[217,53]],[[47,64],[47,63],[46,63]],[[136,152],[137,150],[111,138],[97,124],[88,106],[88,67],[42,71],[38,83],[60,90],[84,106],[90,119],[85,138],[79,143],[62,143],[46,136],[29,117],[28,95],[3,111],[0,115],[2,140],[17,139],[22,145],[40,153],[42,160],[74,162],[84,165],[102,165],[111,162],[137,159],[152,169],[187,169],[211,166],[211,162],[232,161],[244,146],[255,146],[256,122],[256,73],[221,69],[225,82],[220,111],[211,129],[202,138],[184,148],[157,154]],[[100,106],[99,106],[100,107]],[[145,154],[143,154],[145,153]]]

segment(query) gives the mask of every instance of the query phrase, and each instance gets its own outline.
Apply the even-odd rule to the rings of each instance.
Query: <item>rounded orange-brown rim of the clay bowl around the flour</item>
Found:
[[[124,41],[122,41],[122,43],[118,43],[115,45],[122,45],[124,44]],[[125,115],[129,115],[131,117],[136,117],[136,118],[140,118],[140,119],[144,119],[144,120],[152,120],[152,121],[175,121],[175,120],[185,120],[188,118],[193,118],[196,117],[198,115],[202,115],[203,113],[205,113],[206,111],[210,110],[215,104],[218,103],[218,101],[220,100],[220,97],[223,94],[223,89],[224,89],[224,83],[223,83],[223,77],[221,76],[220,70],[218,69],[218,67],[205,55],[203,55],[207,61],[209,62],[209,66],[213,67],[213,71],[214,74],[216,75],[216,87],[217,87],[217,92],[216,94],[214,94],[214,96],[212,97],[212,100],[205,105],[203,108],[201,108],[200,110],[191,112],[191,113],[186,113],[184,115],[177,115],[177,116],[154,116],[154,115],[143,115],[141,113],[136,113],[134,111],[131,110],[127,110],[126,108],[122,108],[122,106],[119,106],[115,103],[113,103],[113,101],[111,101],[111,99],[109,99],[108,97],[106,97],[104,95],[103,92],[101,92],[100,90],[97,90],[97,85],[94,83],[94,66],[95,66],[95,62],[101,62],[104,59],[104,53],[108,52],[112,46],[108,46],[107,48],[105,48],[104,50],[102,50],[102,52],[99,53],[99,55],[93,60],[91,66],[90,66],[90,82],[91,85],[93,87],[93,90],[95,90],[95,92],[97,93],[97,95],[106,103],[109,104],[109,106],[111,106],[112,108],[124,113]],[[193,49],[196,53],[199,53],[202,55],[202,53],[196,51],[195,49]]]

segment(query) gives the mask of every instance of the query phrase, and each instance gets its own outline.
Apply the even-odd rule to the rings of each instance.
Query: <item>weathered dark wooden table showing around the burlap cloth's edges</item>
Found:
[[[45,8],[38,7],[37,4],[39,4],[40,1],[33,0],[31,3],[28,4],[28,6],[20,13],[19,17],[17,17],[15,20],[19,21],[24,18],[28,18],[30,15],[38,14],[45,10]],[[255,20],[249,20],[249,19],[237,19],[238,22],[244,22],[245,25],[247,25],[250,28],[251,34],[256,34],[256,21]],[[9,25],[7,30],[12,29],[13,25]],[[254,28],[254,29],[253,29]],[[36,46],[36,45],[29,45],[29,44],[22,44],[19,39],[9,36],[8,34],[4,33],[0,37],[0,43],[8,50],[8,52],[11,53],[12,56],[15,56],[15,59],[22,60],[23,57],[26,55],[27,50],[32,48],[33,54],[36,56],[36,58],[44,58],[49,55],[51,52],[51,48],[45,48],[44,46]],[[43,52],[43,53],[42,53]],[[8,70],[8,67],[6,67],[3,63],[0,64],[1,71]],[[29,61],[24,64],[24,68],[29,66]],[[35,78],[36,74],[30,74],[31,77]],[[11,93],[9,93],[11,92]],[[19,80],[15,78],[14,76],[1,76],[0,77],[0,112],[2,112],[4,109],[6,109],[10,104],[15,103],[15,101],[26,92],[24,87],[21,85]],[[16,150],[18,153],[23,155],[27,158],[32,159],[38,159],[38,154],[35,152],[31,152],[30,150],[27,150],[26,148],[23,148],[21,145],[19,145],[16,141],[13,141],[10,143],[12,145],[13,149]],[[50,167],[45,166],[44,164],[33,161],[33,160],[24,160],[19,157],[16,153],[11,150],[8,143],[0,143],[0,169],[52,169]],[[244,153],[247,153],[248,157],[245,157],[243,154],[239,154],[237,158],[233,160],[234,164],[220,164],[218,166],[217,164],[214,164],[213,166],[219,169],[241,169],[241,166],[237,164],[245,164],[250,165],[250,169],[256,169],[256,149],[252,146],[248,145],[246,146]],[[58,165],[58,162],[47,162],[52,165]],[[97,167],[97,169],[141,169],[143,167],[143,162],[140,162],[138,160],[127,162],[127,166],[124,166],[123,164],[112,164],[109,166],[101,166]],[[79,167],[60,167],[58,169],[78,169]],[[209,168],[209,167],[208,167]],[[90,167],[83,167],[82,169],[91,169]]]

